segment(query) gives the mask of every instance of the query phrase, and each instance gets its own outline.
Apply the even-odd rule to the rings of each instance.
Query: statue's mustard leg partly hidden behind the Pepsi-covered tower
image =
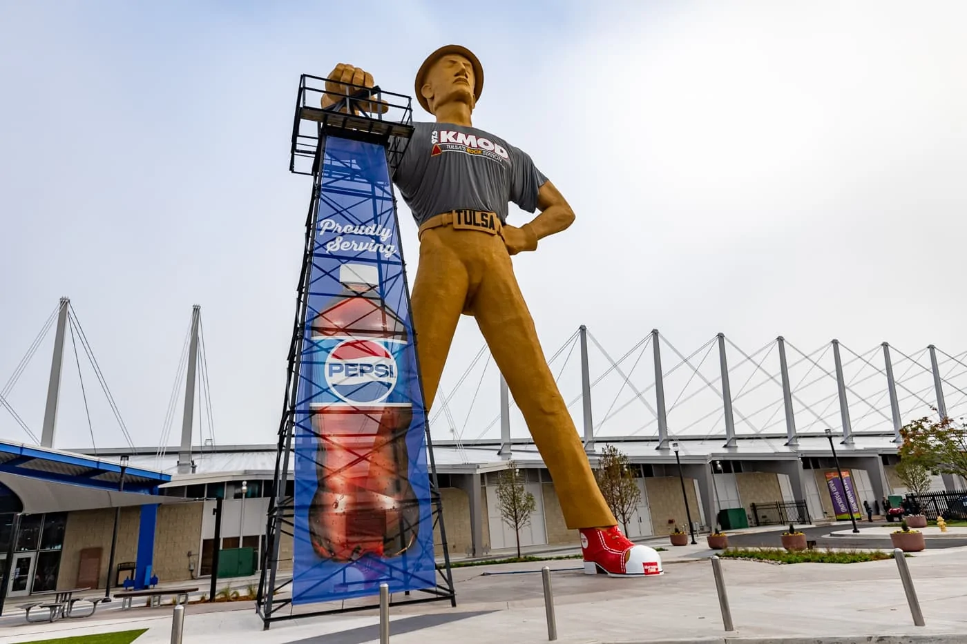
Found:
[[[427,411],[433,406],[440,386],[440,376],[469,288],[467,269],[459,254],[441,243],[439,233],[439,229],[431,228],[423,234],[420,264],[410,298]]]

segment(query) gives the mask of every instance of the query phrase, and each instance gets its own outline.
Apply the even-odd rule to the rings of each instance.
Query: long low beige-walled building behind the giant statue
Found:
[[[868,502],[879,509],[884,495],[903,493],[895,475],[895,447],[890,436],[857,436],[852,446],[837,448],[840,467],[852,482],[859,503]],[[599,448],[607,441],[598,441]],[[632,539],[666,535],[675,526],[687,530],[688,516],[696,531],[710,529],[721,511],[735,520],[736,512],[744,523],[781,524],[790,521],[833,519],[833,501],[827,472],[835,472],[834,461],[825,437],[801,437],[795,449],[776,439],[739,438],[733,448],[722,448],[720,441],[682,439],[679,458],[659,450],[654,440],[610,441],[630,456],[641,492],[641,501],[623,529]],[[520,442],[507,457],[498,454],[499,445],[439,445],[434,448],[443,507],[447,542],[454,557],[484,556],[514,547],[514,534],[500,519],[496,501],[499,474],[513,458],[525,488],[536,500],[530,522],[520,531],[523,546],[576,545],[577,534],[568,530],[548,471],[533,446]],[[120,456],[120,451],[117,451]],[[102,451],[103,454],[103,451]],[[158,465],[176,471],[175,456],[159,461],[156,450],[128,454],[132,467]],[[194,472],[171,474],[170,482],[159,490],[161,504],[154,526],[151,572],[159,581],[206,579],[212,572],[216,547],[216,500],[221,498],[222,550],[247,549],[251,568],[257,570],[259,554],[265,547],[266,515],[274,475],[275,451],[267,446],[221,447],[194,454]],[[597,457],[590,454],[592,463]],[[682,487],[688,498],[688,512]],[[946,483],[938,479],[935,488]],[[287,492],[292,492],[289,481]],[[722,512],[726,513],[726,512]],[[112,584],[133,575],[140,539],[140,511],[125,508],[120,514],[118,541]],[[93,579],[103,588],[108,574],[108,549],[113,530],[112,509],[85,509],[51,512],[41,522],[59,525],[62,543],[58,546],[56,582],[58,588],[74,587]],[[727,526],[726,526],[727,528]],[[53,528],[51,528],[53,529]],[[39,530],[43,533],[43,525]],[[48,530],[49,532],[49,530]],[[2,535],[0,535],[2,541]],[[49,562],[40,539],[35,562]],[[8,538],[9,542],[9,538]],[[437,553],[442,554],[439,529]],[[280,542],[280,568],[291,567],[292,542]],[[46,581],[34,564],[34,583],[46,589]],[[49,566],[47,567],[49,569]],[[31,584],[28,584],[30,586]],[[21,589],[21,592],[29,588]],[[36,589],[34,589],[36,592]]]

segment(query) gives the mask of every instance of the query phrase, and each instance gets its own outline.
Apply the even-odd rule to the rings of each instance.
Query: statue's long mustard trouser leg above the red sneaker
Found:
[[[499,247],[487,246],[485,274],[471,306],[550,471],[564,520],[574,530],[613,526],[617,521],[601,496],[571,414],[547,366],[534,320],[513,276],[511,257],[502,242]]]

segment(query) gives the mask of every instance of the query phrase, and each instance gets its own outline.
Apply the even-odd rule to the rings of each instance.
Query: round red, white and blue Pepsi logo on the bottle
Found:
[[[382,402],[396,387],[396,359],[368,339],[344,340],[326,358],[326,383],[346,402]]]

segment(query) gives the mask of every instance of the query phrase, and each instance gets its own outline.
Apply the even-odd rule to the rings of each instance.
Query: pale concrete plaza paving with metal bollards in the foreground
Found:
[[[665,574],[647,579],[587,576],[573,560],[455,569],[457,607],[439,602],[392,608],[391,641],[545,642],[543,565],[554,571],[561,642],[724,641],[708,559],[713,553],[699,543],[661,554]],[[808,641],[821,642],[833,640],[816,638],[916,634],[934,636],[923,641],[967,640],[967,548],[930,549],[907,561],[923,605],[924,628],[913,625],[893,560],[793,566],[724,560],[736,625],[732,636],[736,641],[810,636]],[[192,604],[184,641],[365,644],[378,641],[376,624],[375,612],[368,611],[280,622],[266,632],[249,602]],[[123,629],[148,629],[137,644],[167,644],[171,607],[122,612],[112,606],[88,620],[53,625],[26,625],[22,613],[12,613],[0,620],[0,643]]]

